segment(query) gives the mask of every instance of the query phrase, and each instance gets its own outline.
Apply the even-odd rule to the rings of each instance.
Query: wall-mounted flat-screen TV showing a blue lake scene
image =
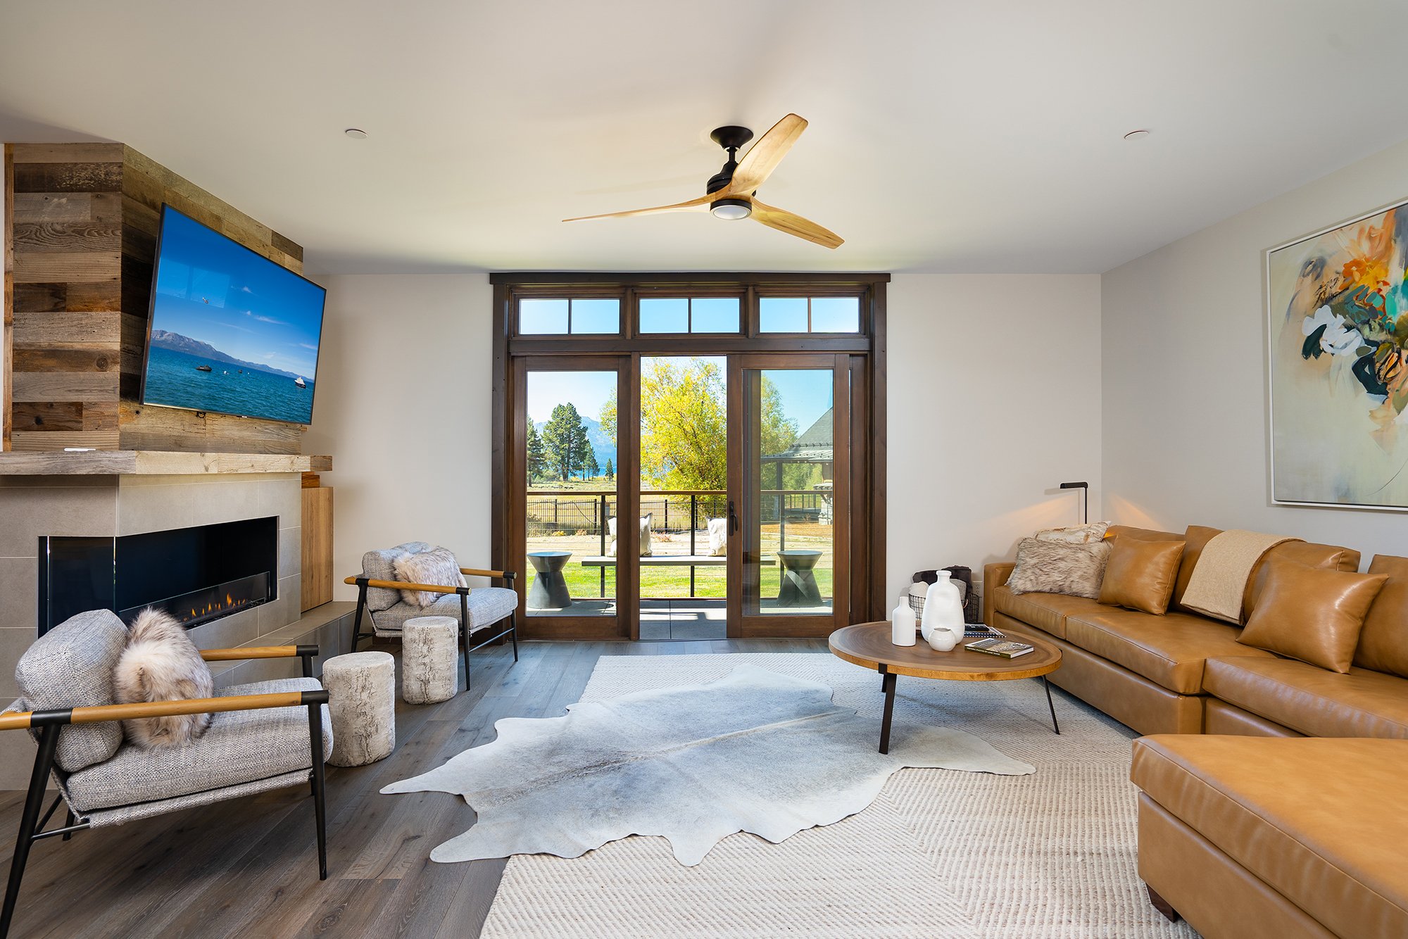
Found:
[[[142,404],[308,424],[325,296],[162,206]]]

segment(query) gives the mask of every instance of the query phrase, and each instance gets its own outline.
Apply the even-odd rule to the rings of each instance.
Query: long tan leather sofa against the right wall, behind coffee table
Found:
[[[1408,738],[1408,679],[1359,666],[1338,674],[1281,659],[1239,643],[1239,626],[1181,605],[1193,566],[1218,529],[1193,525],[1177,535],[1114,525],[1107,536],[1119,534],[1186,542],[1169,614],[1014,594],[1005,586],[1012,565],[984,567],[987,624],[1059,646],[1052,683],[1140,733]],[[1271,556],[1339,570],[1359,570],[1360,562],[1357,550],[1308,542],[1284,542]],[[1247,581],[1243,621],[1264,584],[1266,559]],[[1401,612],[1408,618],[1408,607]]]

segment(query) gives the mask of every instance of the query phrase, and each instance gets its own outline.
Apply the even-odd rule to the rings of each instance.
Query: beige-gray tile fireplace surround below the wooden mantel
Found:
[[[300,473],[0,476],[0,707],[18,695],[14,667],[38,635],[42,535],[113,538],[277,517],[277,598],[197,625],[190,636],[201,649],[318,642],[322,657],[338,655],[352,604],[300,612],[301,486]],[[224,687],[297,674],[297,663],[213,663],[211,672]],[[32,762],[27,735],[0,733],[0,790],[24,788]]]

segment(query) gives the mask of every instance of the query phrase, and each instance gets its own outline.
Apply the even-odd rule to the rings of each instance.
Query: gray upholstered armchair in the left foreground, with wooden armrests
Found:
[[[0,714],[0,731],[28,729],[39,745],[0,912],[10,931],[30,846],[87,828],[122,825],[196,805],[286,786],[310,786],[318,836],[318,877],[327,880],[322,763],[332,752],[328,693],[313,674],[317,646],[211,649],[211,662],[300,657],[301,679],[224,688],[214,698],[113,702],[113,672],[127,646],[127,626],[107,610],[82,612],[30,646],[15,667],[23,695]],[[124,741],[120,721],[139,717],[214,714],[193,743],[144,750]],[[54,777],[59,794],[44,812]],[[63,826],[44,831],[59,804]]]

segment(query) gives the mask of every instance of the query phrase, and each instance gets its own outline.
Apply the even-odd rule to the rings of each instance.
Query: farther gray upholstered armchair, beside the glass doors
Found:
[[[483,649],[490,642],[508,636],[514,643],[514,662],[518,662],[518,591],[514,590],[514,572],[480,570],[460,567],[460,574],[470,577],[491,577],[503,581],[503,587],[445,587],[436,584],[414,584],[396,579],[396,560],[403,555],[420,555],[434,550],[422,541],[411,541],[386,550],[369,550],[362,555],[362,574],[348,577],[342,583],[358,588],[356,617],[352,621],[352,646],[372,636],[400,636],[407,619],[417,617],[451,617],[459,622],[459,635],[465,643],[465,690],[469,691],[469,653]],[[403,590],[418,590],[441,594],[428,607],[417,607],[401,597]],[[372,629],[363,631],[362,618],[372,621]],[[470,636],[489,629],[494,624],[508,621],[508,628],[494,635],[476,636],[479,645],[470,646]]]

